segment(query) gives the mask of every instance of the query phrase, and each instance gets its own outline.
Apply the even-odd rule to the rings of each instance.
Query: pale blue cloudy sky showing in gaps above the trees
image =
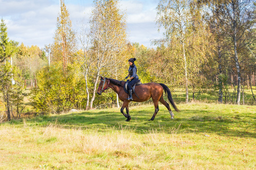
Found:
[[[159,0],[119,0],[119,8],[127,15],[129,42],[154,48],[151,41],[160,39],[156,25],[156,6]],[[57,17],[60,14],[58,0],[0,0],[0,17],[5,20],[9,40],[23,42],[26,46],[44,48],[53,43]],[[93,0],[65,0],[76,31],[81,21],[89,22]]]

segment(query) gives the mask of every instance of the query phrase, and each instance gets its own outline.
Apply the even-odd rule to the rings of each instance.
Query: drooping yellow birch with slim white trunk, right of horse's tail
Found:
[[[198,81],[194,81],[194,75],[200,73],[201,66],[207,61],[205,49],[209,33],[200,14],[201,7],[194,1],[162,0],[157,10],[156,22],[159,29],[165,29],[165,39],[160,43],[166,42],[168,46],[167,60],[176,61],[172,62],[176,63],[172,71],[180,75],[180,66],[183,69],[185,102],[188,103],[189,79],[195,86],[195,82]]]

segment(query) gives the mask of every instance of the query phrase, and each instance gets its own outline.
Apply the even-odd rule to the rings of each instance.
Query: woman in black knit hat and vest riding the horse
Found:
[[[128,83],[129,98],[128,98],[128,100],[130,100],[130,101],[133,101],[133,90],[131,87],[139,81],[139,76],[137,75],[137,67],[134,64],[134,61],[136,61],[136,58],[130,58],[128,60],[130,67],[128,70],[129,73],[125,78],[125,79],[127,79],[130,76],[130,78],[127,79],[127,80],[129,80],[129,83]]]

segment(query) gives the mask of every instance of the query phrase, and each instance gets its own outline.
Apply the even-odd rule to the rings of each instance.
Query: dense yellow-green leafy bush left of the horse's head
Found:
[[[65,75],[62,69],[61,63],[56,63],[44,67],[36,75],[38,88],[32,90],[31,96],[38,112],[61,113],[73,108],[85,108],[85,80],[77,74],[80,67],[69,65]]]

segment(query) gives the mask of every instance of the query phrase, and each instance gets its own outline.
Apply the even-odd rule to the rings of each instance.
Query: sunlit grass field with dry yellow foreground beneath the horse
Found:
[[[0,124],[0,169],[255,169],[256,106],[190,103]]]

